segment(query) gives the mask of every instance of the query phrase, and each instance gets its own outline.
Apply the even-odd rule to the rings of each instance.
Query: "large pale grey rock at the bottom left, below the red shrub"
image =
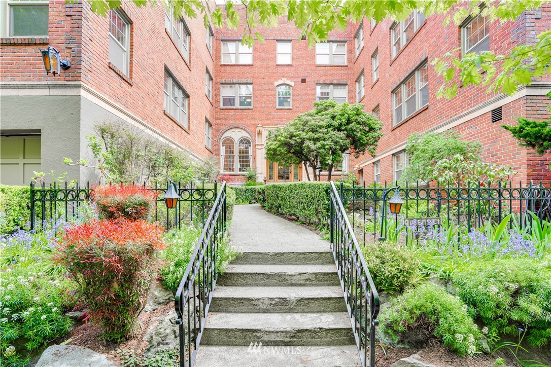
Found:
[[[44,350],[35,367],[114,367],[104,354],[79,346],[51,346]]]

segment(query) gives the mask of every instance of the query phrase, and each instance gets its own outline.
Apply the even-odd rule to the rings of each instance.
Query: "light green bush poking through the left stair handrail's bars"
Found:
[[[165,237],[168,248],[160,255],[163,260],[160,266],[160,275],[163,286],[171,289],[172,292],[176,291],[186,272],[201,231],[202,229],[199,227],[182,227],[179,231],[167,234]],[[217,250],[216,270],[220,274],[223,273],[225,266],[235,259],[236,255],[237,251],[231,247],[228,236],[222,238]]]

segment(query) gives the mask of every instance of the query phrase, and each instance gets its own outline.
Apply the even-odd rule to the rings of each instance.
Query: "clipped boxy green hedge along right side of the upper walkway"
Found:
[[[264,209],[307,224],[328,226],[328,182],[293,182],[264,185],[258,202]]]

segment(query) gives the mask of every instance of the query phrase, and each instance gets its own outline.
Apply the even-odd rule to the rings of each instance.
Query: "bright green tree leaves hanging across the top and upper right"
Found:
[[[78,0],[66,0],[76,2]],[[414,10],[425,17],[446,14],[445,25],[460,25],[468,17],[482,14],[490,20],[514,21],[527,10],[534,10],[549,0],[234,0],[209,9],[202,0],[131,0],[136,6],[163,4],[173,9],[175,18],[202,17],[205,26],[237,29],[245,24],[242,43],[263,42],[261,28],[277,26],[278,18],[293,23],[310,46],[325,41],[329,32],[344,30],[348,21],[366,17],[379,22],[387,17],[404,20]],[[109,9],[121,6],[121,0],[88,0],[91,9],[105,16]],[[443,50],[446,51],[446,50]],[[532,78],[551,73],[551,30],[537,35],[537,43],[512,48],[508,54],[494,52],[468,53],[447,50],[432,61],[436,72],[444,76],[438,96],[452,98],[458,85],[485,85],[488,91],[512,95],[518,87],[530,85]],[[480,73],[482,68],[485,73]]]

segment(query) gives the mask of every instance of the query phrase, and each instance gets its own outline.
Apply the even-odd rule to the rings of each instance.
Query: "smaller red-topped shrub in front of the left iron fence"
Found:
[[[99,185],[92,191],[101,218],[146,219],[157,193],[138,185]]]

